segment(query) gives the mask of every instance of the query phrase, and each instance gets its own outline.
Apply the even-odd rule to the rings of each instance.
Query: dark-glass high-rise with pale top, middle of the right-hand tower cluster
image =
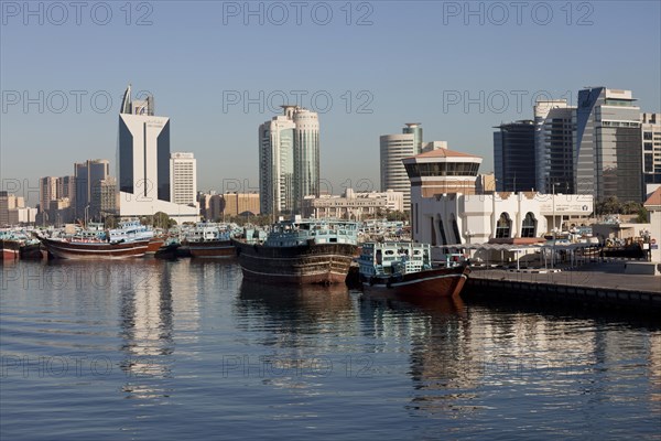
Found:
[[[535,189],[574,193],[576,108],[566,99],[538,100],[534,106]],[[525,190],[525,189],[523,189]]]

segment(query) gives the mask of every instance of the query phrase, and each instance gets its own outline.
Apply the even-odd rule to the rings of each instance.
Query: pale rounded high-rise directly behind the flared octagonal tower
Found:
[[[402,133],[382,135],[380,141],[381,191],[391,189],[404,195],[404,211],[411,208],[411,182],[402,160],[422,153],[420,122],[407,122]]]

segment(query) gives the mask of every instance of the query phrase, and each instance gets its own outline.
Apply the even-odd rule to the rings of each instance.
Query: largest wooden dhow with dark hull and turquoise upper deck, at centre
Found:
[[[356,254],[355,223],[296,218],[274,224],[266,241],[232,239],[246,279],[270,283],[344,283]]]

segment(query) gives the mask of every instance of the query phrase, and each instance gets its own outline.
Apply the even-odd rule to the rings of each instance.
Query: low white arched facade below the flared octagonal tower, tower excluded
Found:
[[[411,211],[415,241],[431,245],[483,244],[497,237],[542,237],[550,234],[553,226],[560,229],[567,216],[588,216],[593,212],[593,196],[508,192],[422,197],[419,187],[414,187]],[[532,220],[532,230],[525,229],[527,216]],[[501,219],[508,224],[507,232],[498,226]]]

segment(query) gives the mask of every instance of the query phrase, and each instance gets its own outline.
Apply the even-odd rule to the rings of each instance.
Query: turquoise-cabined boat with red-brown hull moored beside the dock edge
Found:
[[[432,267],[429,244],[362,244],[358,260],[360,280],[366,292],[397,295],[458,295],[470,269],[451,263]]]

